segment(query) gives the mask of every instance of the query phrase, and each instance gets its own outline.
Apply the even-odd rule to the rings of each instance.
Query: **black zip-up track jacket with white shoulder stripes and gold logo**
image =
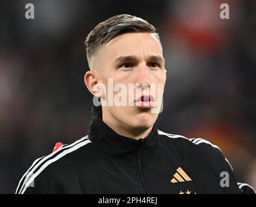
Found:
[[[115,133],[92,110],[89,133],[34,161],[16,193],[255,193],[237,183],[217,146],[164,133],[144,139]]]

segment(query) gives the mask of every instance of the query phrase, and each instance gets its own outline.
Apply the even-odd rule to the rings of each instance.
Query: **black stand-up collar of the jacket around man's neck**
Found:
[[[101,151],[107,153],[107,155],[114,155],[126,160],[135,158],[140,147],[142,155],[153,155],[159,146],[156,123],[146,138],[134,140],[133,138],[119,135],[105,124],[102,120],[101,107],[95,106],[92,107],[92,120],[89,125],[88,135],[92,143],[100,147]]]

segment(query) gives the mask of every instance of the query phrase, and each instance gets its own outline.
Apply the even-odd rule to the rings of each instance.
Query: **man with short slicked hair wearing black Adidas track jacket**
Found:
[[[157,129],[166,70],[152,25],[110,17],[85,44],[97,105],[89,133],[34,161],[16,193],[254,193],[217,146]]]

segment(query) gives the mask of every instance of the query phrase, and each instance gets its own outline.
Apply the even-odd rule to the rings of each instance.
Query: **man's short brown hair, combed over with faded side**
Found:
[[[156,28],[146,20],[129,14],[120,14],[110,17],[106,21],[99,23],[86,37],[86,56],[90,66],[90,58],[96,53],[99,46],[108,43],[111,39],[121,34],[131,32],[154,33],[159,39]]]

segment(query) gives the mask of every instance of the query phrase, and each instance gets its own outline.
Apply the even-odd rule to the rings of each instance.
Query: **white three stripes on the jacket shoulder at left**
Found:
[[[19,180],[18,187],[16,189],[16,194],[23,194],[27,188],[31,185],[31,182],[45,169],[49,164],[56,162],[58,159],[64,157],[68,153],[83,147],[84,145],[91,143],[88,139],[88,135],[84,136],[83,138],[73,142],[73,144],[65,144],[60,146],[57,151],[45,156],[40,157],[35,160],[32,166],[27,170],[27,172],[21,177]]]

